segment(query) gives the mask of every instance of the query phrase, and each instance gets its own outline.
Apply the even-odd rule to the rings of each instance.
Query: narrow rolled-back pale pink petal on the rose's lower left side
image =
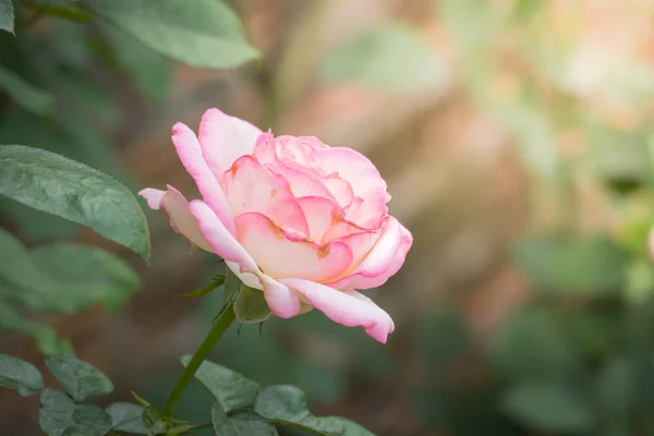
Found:
[[[214,253],[226,261],[239,264],[241,272],[258,272],[252,256],[232,237],[206,203],[194,199],[189,204],[189,210],[197,220],[199,230]]]

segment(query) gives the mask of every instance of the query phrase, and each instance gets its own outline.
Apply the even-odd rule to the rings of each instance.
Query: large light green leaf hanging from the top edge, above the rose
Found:
[[[227,69],[257,58],[237,14],[217,0],[84,0],[83,5],[164,56]]]

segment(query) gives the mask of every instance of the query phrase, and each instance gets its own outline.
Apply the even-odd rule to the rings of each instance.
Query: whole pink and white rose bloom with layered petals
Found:
[[[388,215],[386,183],[366,157],[312,136],[274,137],[218,109],[198,136],[174,124],[172,142],[203,199],[148,187],[140,195],[150,208],[261,289],[277,316],[316,307],[386,342],[392,319],[355,289],[385,283],[413,239]]]

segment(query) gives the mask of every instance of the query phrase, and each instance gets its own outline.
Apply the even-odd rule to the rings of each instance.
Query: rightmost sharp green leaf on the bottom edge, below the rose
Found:
[[[307,409],[306,395],[294,386],[270,386],[254,403],[263,417],[279,424],[293,425],[328,436],[374,436],[353,421],[340,416],[314,416]]]

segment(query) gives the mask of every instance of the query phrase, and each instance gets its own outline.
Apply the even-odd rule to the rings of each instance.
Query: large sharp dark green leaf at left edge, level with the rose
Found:
[[[22,145],[0,146],[0,194],[90,227],[149,262],[143,210],[126,187],[93,168]]]

